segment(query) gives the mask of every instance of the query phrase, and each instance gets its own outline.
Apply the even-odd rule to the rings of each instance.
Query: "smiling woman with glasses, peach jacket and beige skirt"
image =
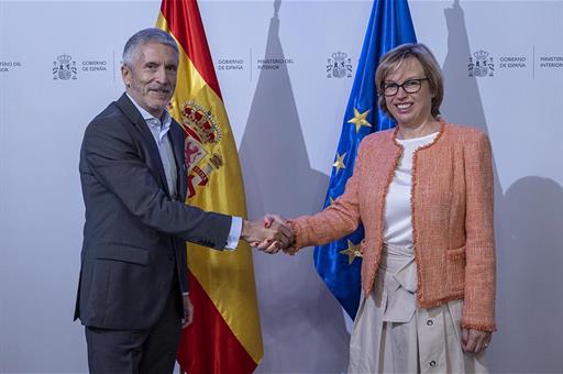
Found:
[[[375,82],[396,129],[363,140],[334,204],[288,221],[286,252],[364,224],[351,373],[485,372],[496,329],[488,139],[440,119],[443,80],[422,44],[383,56]]]

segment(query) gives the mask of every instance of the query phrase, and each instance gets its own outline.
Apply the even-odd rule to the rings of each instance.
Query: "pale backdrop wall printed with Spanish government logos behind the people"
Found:
[[[322,205],[371,4],[285,0],[276,16],[274,1],[200,3],[251,217]],[[78,152],[88,121],[123,90],[124,42],[153,25],[158,8],[0,0],[0,373],[87,371],[82,328],[71,322]],[[410,9],[418,40],[443,66],[444,117],[493,143],[493,372],[563,373],[563,2],[419,0]],[[352,77],[327,76],[336,52]],[[76,70],[54,70],[58,58]],[[287,63],[261,69],[266,58]],[[486,59],[486,76],[470,77],[470,58]],[[257,373],[346,369],[345,321],[311,257],[254,256],[265,343]]]

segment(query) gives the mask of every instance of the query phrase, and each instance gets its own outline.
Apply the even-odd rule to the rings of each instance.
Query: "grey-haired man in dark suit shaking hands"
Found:
[[[158,29],[123,51],[126,92],[88,125],[80,151],[86,205],[75,320],[86,329],[92,373],[172,373],[180,328],[191,322],[185,241],[216,250],[286,245],[276,224],[184,204],[184,133],[165,107],[178,47]],[[271,244],[276,246],[276,244]]]

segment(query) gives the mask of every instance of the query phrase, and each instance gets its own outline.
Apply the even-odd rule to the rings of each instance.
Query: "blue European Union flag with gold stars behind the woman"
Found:
[[[395,122],[377,107],[374,80],[380,56],[397,45],[416,41],[407,0],[374,1],[344,114],[324,207],[344,193],[362,139],[374,131],[395,127]],[[364,229],[360,227],[349,237],[314,249],[317,272],[352,319],[356,316],[362,292],[362,263],[356,256],[360,254],[358,243],[363,238]]]

